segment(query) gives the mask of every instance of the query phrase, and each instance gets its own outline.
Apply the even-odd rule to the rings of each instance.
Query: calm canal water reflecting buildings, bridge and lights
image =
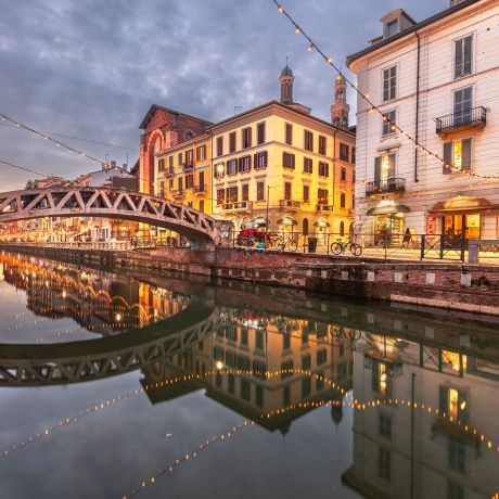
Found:
[[[491,498],[498,324],[0,255],[1,498]]]

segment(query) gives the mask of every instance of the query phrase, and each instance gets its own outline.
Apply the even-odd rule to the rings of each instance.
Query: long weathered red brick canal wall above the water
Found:
[[[47,258],[129,270],[204,276],[213,281],[252,284],[499,316],[499,267],[461,263],[419,263],[327,255],[263,253],[216,247],[103,252],[4,246]]]

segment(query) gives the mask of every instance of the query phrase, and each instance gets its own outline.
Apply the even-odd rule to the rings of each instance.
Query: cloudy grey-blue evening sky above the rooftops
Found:
[[[336,62],[402,7],[417,20],[448,0],[286,0]],[[334,74],[271,0],[0,0],[0,113],[98,158],[129,164],[152,103],[218,120],[279,97],[290,56],[295,100],[329,119]],[[353,101],[353,97],[350,97]],[[54,137],[57,138],[57,137]],[[113,144],[113,145],[111,145]],[[114,145],[120,145],[116,148]],[[128,148],[125,149],[125,148]],[[0,159],[74,178],[99,165],[0,121]],[[0,191],[29,174],[0,164]]]

